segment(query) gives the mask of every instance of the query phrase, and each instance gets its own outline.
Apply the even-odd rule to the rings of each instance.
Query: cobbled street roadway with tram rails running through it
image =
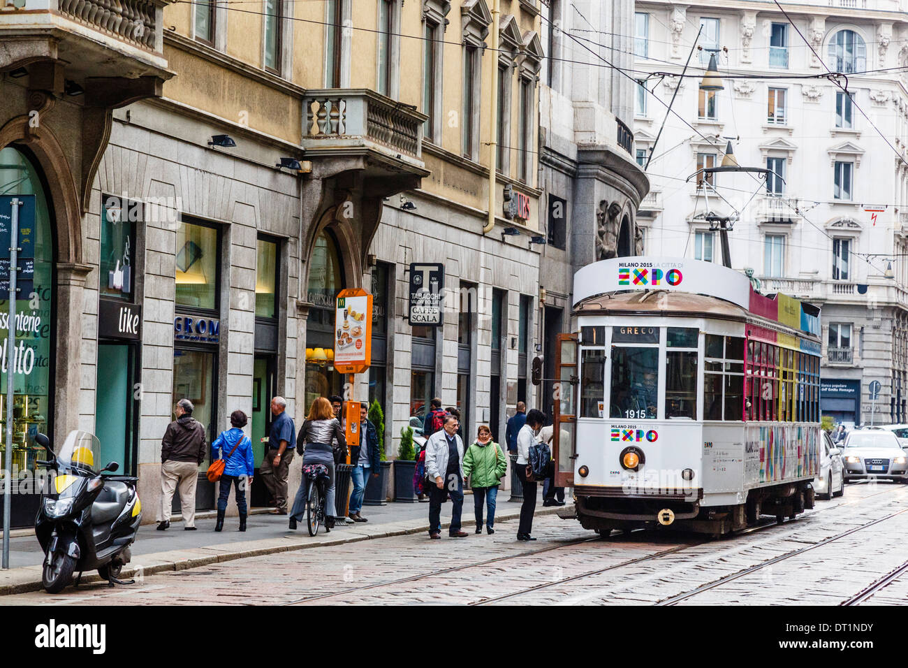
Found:
[[[661,531],[603,540],[551,514],[537,518],[533,543],[515,540],[514,520],[497,523],[494,535],[469,531],[463,539],[412,533],[324,544],[140,573],[114,589],[8,595],[0,604],[873,605],[904,603],[908,594],[902,484],[848,485],[844,497],[794,521],[765,518],[722,540]]]

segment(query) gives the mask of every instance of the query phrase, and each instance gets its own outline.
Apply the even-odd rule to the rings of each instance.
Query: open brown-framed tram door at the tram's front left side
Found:
[[[555,485],[574,486],[574,460],[577,458],[577,334],[558,334],[555,350],[555,425],[552,459]]]

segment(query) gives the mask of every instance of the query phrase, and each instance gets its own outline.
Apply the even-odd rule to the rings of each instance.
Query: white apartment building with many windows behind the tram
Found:
[[[696,217],[708,188],[686,179],[720,165],[730,140],[739,165],[772,170],[765,183],[715,174],[735,208],[756,192],[730,234],[731,265],[752,272],[765,294],[822,307],[824,415],[904,422],[908,162],[899,154],[908,143],[908,2],[783,6],[787,17],[773,2],[636,3],[634,68],[646,85],[637,88],[634,121],[640,165],[679,86],[677,115],[668,115],[646,169],[651,190],[637,216],[648,228],[646,254],[722,262],[718,234]],[[679,79],[692,49],[693,76]],[[698,86],[710,53],[725,85],[715,93]],[[830,70],[845,76],[819,77]],[[730,213],[715,196],[709,204]],[[872,416],[873,381],[883,389]]]

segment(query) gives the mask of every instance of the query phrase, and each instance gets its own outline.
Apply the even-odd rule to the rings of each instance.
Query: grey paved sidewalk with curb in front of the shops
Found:
[[[520,503],[509,503],[508,494],[507,491],[503,492],[500,499],[504,501],[498,501],[496,529],[503,533],[516,533],[516,523],[499,526],[499,523],[516,519],[520,513]],[[471,495],[466,496],[463,504],[463,526],[469,532],[476,525],[472,499]],[[540,491],[536,514],[557,513],[558,510],[561,510],[561,506],[542,507]],[[339,524],[331,533],[324,533],[320,529],[314,537],[309,535],[305,523],[301,523],[296,531],[288,529],[286,515],[251,514],[245,533],[237,531],[239,520],[236,517],[227,518],[221,533],[214,532],[213,518],[196,519],[197,531],[183,531],[183,523],[173,523],[167,531],[157,531],[155,524],[146,524],[139,529],[139,535],[132,546],[133,560],[123,569],[121,578],[133,577],[139,569],[145,575],[181,571],[243,557],[429,531],[429,503],[363,506],[362,515],[369,518],[368,523]],[[450,523],[450,503],[442,505],[441,520],[442,529],[447,528]],[[442,532],[442,540],[445,538],[447,536]],[[13,537],[10,543],[11,568],[7,571],[0,570],[0,595],[40,590],[43,558],[44,553],[41,552],[34,533]],[[83,576],[84,583],[97,579],[96,572],[85,573]]]

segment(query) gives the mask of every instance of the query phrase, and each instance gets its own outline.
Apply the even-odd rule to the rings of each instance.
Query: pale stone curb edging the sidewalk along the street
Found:
[[[571,503],[568,503],[567,506],[555,506],[540,508],[534,516],[540,515],[550,515],[558,513],[558,511],[563,508],[569,507]],[[496,514],[495,520],[498,522],[508,522],[509,520],[518,519],[520,516],[519,512],[509,511],[506,513]],[[410,522],[414,522],[410,520]],[[141,559],[146,562],[138,567],[133,566],[132,568],[123,568],[123,572],[120,574],[121,578],[131,578],[136,576],[144,575],[153,575],[155,573],[166,573],[168,571],[184,571],[190,568],[198,568],[199,566],[205,566],[212,563],[223,563],[231,562],[236,559],[245,559],[246,557],[252,556],[262,556],[265,554],[275,554],[282,552],[295,552],[297,550],[306,550],[314,547],[321,547],[326,545],[341,545],[343,543],[359,543],[360,541],[368,541],[380,538],[390,538],[392,536],[402,536],[402,535],[411,535],[413,533],[423,533],[429,531],[429,524],[422,523],[421,520],[417,520],[418,525],[406,526],[406,522],[401,523],[386,523],[386,524],[377,524],[375,525],[374,531],[363,534],[355,533],[347,537],[331,537],[329,538],[327,534],[325,538],[320,539],[316,537],[315,539],[306,541],[305,543],[285,543],[288,536],[281,535],[274,538],[259,538],[249,541],[251,544],[248,548],[243,550],[232,549],[234,544],[231,543],[222,543],[221,545],[208,545],[204,547],[195,547],[184,550],[173,550],[171,552],[159,552],[151,554],[143,554],[136,559]],[[475,526],[476,520],[464,520],[461,522],[462,526]],[[441,528],[445,529],[450,526],[450,522],[441,523]],[[346,529],[341,529],[341,532],[346,530],[353,530],[355,525],[348,526]],[[387,527],[387,528],[383,528]],[[359,531],[364,531],[363,529],[358,529]],[[302,531],[305,531],[303,528]],[[365,530],[369,531],[369,530]],[[321,534],[320,534],[321,535]],[[308,534],[305,534],[306,538],[310,538]],[[254,543],[266,543],[255,546]],[[42,589],[41,584],[41,572],[42,566],[21,566],[16,569],[12,569],[9,574],[12,576],[10,579],[14,579],[15,576],[20,576],[18,578],[19,582],[11,583],[2,583],[0,584],[0,596],[9,595],[12,593],[28,593],[28,592],[37,592]],[[0,578],[4,576],[3,572],[0,572]],[[91,575],[85,574],[82,578],[83,583],[97,583],[102,582],[101,577],[97,573]]]

